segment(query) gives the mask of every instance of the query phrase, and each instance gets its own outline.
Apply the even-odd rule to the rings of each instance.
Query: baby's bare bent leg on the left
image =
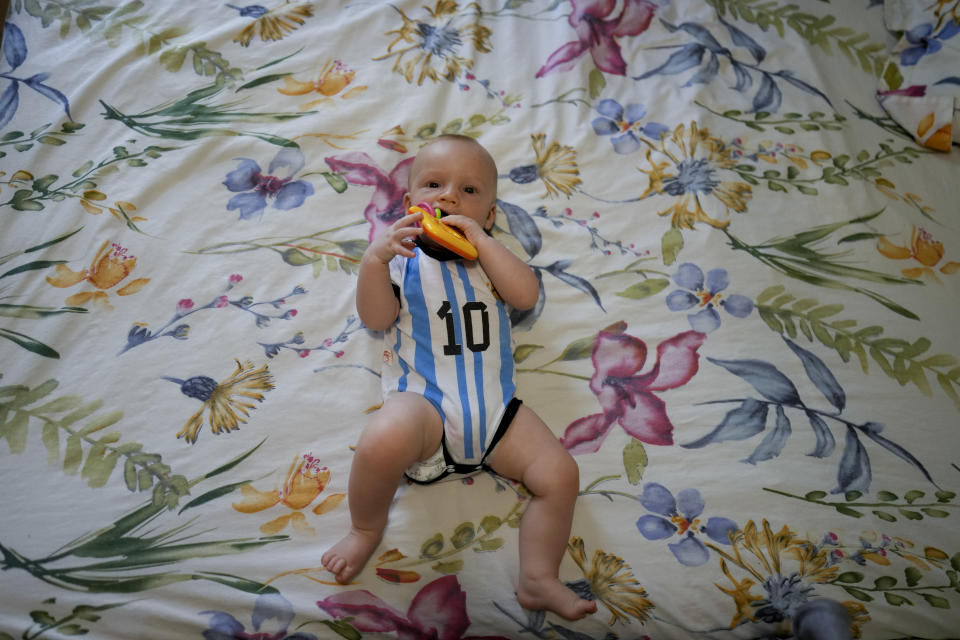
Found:
[[[440,414],[416,393],[390,396],[364,428],[347,485],[350,532],[321,559],[337,582],[350,582],[363,569],[380,543],[403,472],[433,455],[442,436]]]

